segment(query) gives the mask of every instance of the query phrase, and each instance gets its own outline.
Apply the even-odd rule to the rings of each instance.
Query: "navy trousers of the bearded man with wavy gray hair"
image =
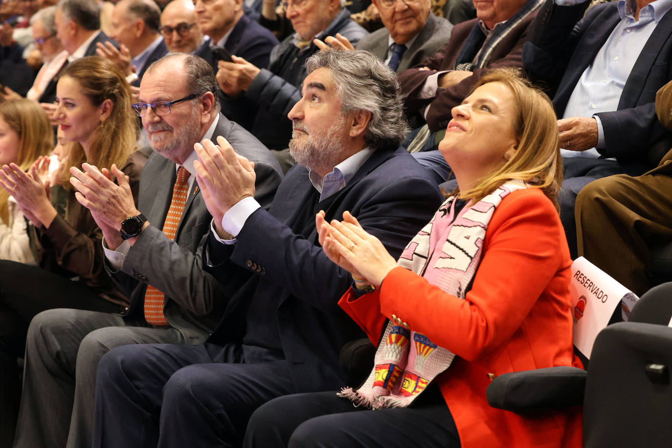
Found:
[[[239,446],[252,412],[295,392],[287,361],[257,347],[118,347],[98,365],[93,446]]]

